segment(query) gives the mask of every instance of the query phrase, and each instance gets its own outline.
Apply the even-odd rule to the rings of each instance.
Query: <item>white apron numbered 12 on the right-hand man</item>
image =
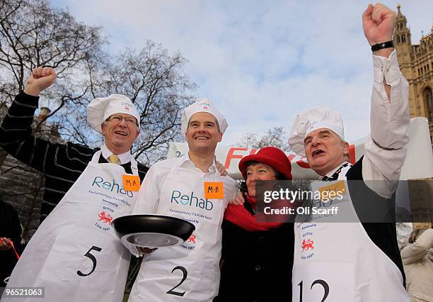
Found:
[[[319,191],[337,182],[317,181],[311,188]],[[295,223],[292,301],[409,301],[400,270],[371,241],[359,223],[347,181],[340,182],[342,198],[327,206],[321,202],[323,209],[338,206],[337,215],[316,213],[311,222]],[[341,220],[354,223],[336,222]]]

